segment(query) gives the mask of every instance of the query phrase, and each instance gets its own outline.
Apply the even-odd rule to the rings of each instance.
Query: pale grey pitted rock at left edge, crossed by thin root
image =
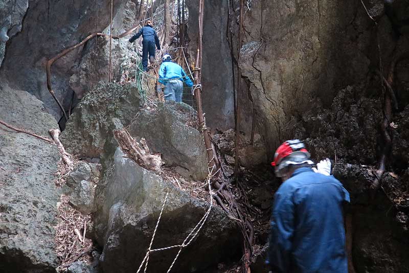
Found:
[[[0,96],[0,120],[44,136],[58,128],[27,92],[1,85]],[[57,148],[3,125],[0,131],[0,272],[55,272]]]

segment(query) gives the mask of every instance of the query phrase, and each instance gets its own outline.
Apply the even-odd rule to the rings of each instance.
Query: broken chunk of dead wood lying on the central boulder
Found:
[[[126,129],[114,130],[113,135],[117,140],[122,151],[138,165],[145,169],[159,173],[163,165],[161,154],[149,153],[145,139],[141,144],[135,141]],[[146,147],[146,148],[145,148]]]

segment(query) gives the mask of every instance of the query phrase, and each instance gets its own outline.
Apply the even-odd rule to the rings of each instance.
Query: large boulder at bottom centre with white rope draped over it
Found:
[[[139,165],[117,149],[115,163],[97,187],[95,214],[97,240],[104,246],[104,272],[138,268],[149,245],[163,200],[169,192],[153,247],[180,244],[205,214],[209,203],[192,198]],[[235,222],[215,206],[196,240],[181,253],[175,272],[200,271],[240,252]],[[168,269],[177,249],[150,256],[149,271]],[[152,266],[154,264],[154,266]]]

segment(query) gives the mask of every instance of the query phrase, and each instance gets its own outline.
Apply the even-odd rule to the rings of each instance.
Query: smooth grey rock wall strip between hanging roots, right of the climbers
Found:
[[[190,47],[196,58],[198,32],[198,0],[188,0]],[[227,130],[234,127],[234,100],[232,57],[227,42],[226,28],[229,16],[228,2],[209,0],[205,2],[203,17],[203,111],[207,126]],[[237,72],[236,72],[237,73]],[[235,74],[237,77],[237,74]]]

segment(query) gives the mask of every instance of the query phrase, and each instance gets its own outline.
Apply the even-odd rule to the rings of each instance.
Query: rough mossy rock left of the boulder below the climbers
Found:
[[[110,121],[128,125],[142,103],[134,84],[100,83],[86,94],[61,134],[65,149],[83,157],[99,157],[105,139],[112,135]]]

